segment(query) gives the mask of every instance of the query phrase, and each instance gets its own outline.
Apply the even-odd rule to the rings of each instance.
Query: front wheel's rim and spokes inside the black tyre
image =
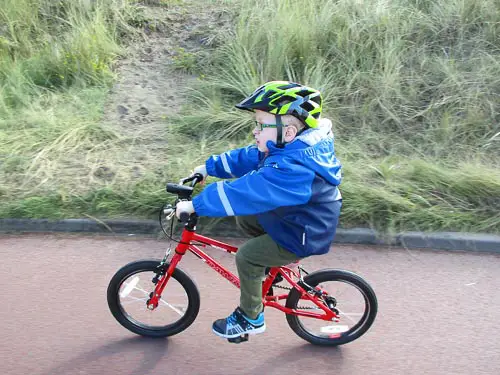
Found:
[[[187,313],[189,298],[184,287],[173,277],[168,280],[158,306],[147,308],[146,302],[154,291],[156,273],[140,270],[128,275],[120,283],[118,305],[134,325],[148,330],[162,330],[178,323]]]

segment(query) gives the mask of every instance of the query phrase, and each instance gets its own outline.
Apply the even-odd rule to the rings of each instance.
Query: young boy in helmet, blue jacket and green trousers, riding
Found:
[[[254,238],[236,253],[240,305],[212,329],[224,338],[266,329],[262,279],[279,267],[329,251],[342,197],[341,165],[335,157],[332,124],[322,119],[318,90],[293,82],[260,86],[237,108],[255,113],[256,145],[211,156],[195,173],[233,179],[207,186],[176,214],[237,216]]]

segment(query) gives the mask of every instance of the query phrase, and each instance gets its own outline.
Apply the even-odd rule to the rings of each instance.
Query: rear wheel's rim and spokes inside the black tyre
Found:
[[[340,340],[355,335],[364,326],[370,314],[370,304],[365,292],[347,280],[325,281],[317,286],[329,297],[333,297],[329,302],[334,302],[335,309],[338,310],[339,322],[297,316],[302,329],[308,335],[328,340]],[[297,302],[297,309],[322,312],[316,304],[307,299],[300,299]]]

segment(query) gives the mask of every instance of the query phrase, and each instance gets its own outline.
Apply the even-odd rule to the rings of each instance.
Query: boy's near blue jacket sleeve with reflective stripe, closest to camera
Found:
[[[255,215],[282,206],[307,203],[314,172],[306,168],[264,166],[234,181],[207,186],[193,199],[200,216]]]

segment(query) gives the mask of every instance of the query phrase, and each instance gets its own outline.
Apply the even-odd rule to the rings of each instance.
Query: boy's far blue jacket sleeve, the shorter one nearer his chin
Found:
[[[205,166],[210,176],[235,178],[257,169],[262,157],[256,146],[248,146],[213,155],[207,159]]]

